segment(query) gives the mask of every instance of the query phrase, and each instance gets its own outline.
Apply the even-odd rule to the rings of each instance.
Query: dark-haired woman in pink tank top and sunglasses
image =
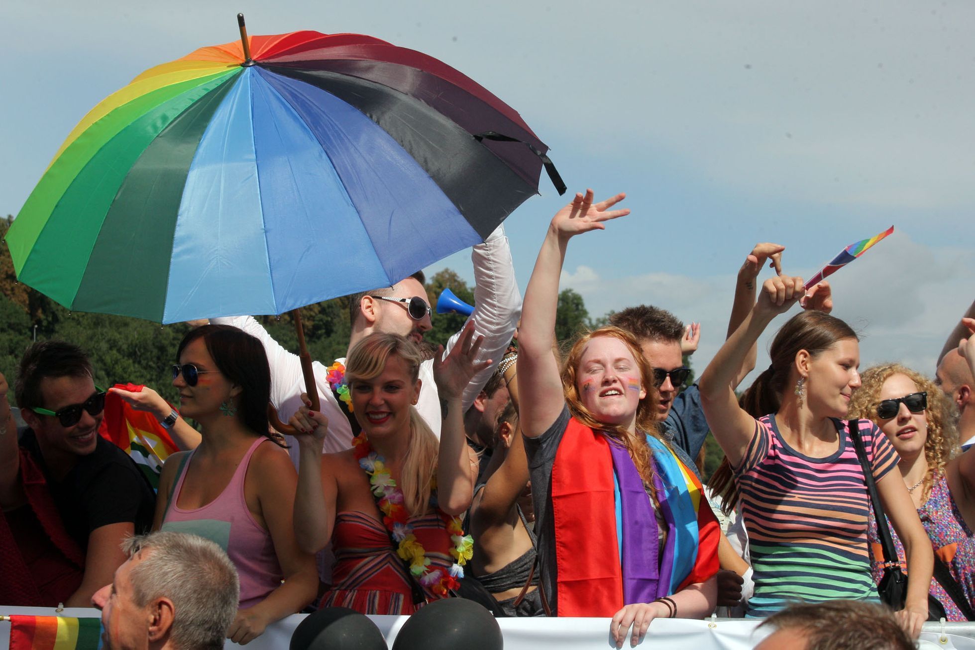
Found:
[[[180,414],[200,424],[203,440],[167,460],[153,527],[201,535],[227,552],[241,585],[227,637],[247,643],[318,590],[314,556],[294,541],[297,477],[266,436],[271,375],[256,338],[204,325],[183,337],[176,358]]]

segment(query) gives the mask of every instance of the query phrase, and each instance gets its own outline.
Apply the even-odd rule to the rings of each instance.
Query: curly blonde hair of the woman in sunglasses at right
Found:
[[[924,476],[923,490],[926,494],[935,479],[945,471],[948,461],[959,451],[955,422],[949,416],[951,406],[933,381],[900,363],[875,365],[860,375],[862,383],[850,400],[849,418],[872,420],[879,425],[877,407],[880,404],[880,389],[883,382],[895,374],[903,374],[914,382],[918,391],[927,393],[927,408],[924,411],[927,416],[927,439],[924,440],[927,474]]]

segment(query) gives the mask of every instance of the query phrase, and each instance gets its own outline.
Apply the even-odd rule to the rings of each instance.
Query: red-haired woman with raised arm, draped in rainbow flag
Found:
[[[719,537],[700,483],[657,436],[653,374],[636,340],[597,329],[561,371],[553,353],[568,241],[629,213],[610,210],[623,198],[594,205],[587,191],[556,213],[518,338],[539,589],[559,616],[612,617],[617,647],[628,636],[636,645],[654,618],[711,613]]]

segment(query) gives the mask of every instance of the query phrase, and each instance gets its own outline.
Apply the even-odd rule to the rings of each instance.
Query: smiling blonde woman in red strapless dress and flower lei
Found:
[[[438,441],[415,406],[419,347],[399,334],[374,333],[349,352],[346,380],[362,425],[353,447],[322,454],[328,418],[305,405],[292,416],[299,434],[294,530],[315,553],[331,541],[333,584],[321,607],[364,614],[411,614],[459,588],[473,543],[461,529],[478,459],[467,446],[461,399],[483,337],[473,324],[434,363],[444,409]]]

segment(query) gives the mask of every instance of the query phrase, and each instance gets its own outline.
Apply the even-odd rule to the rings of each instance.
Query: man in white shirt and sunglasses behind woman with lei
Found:
[[[511,261],[511,250],[504,227],[498,226],[484,244],[471,249],[474,264],[474,321],[475,335],[483,335],[484,343],[478,361],[490,359],[494,363],[474,376],[464,390],[464,409],[470,407],[481,389],[487,383],[504,351],[511,342],[515,327],[522,313],[522,295],[515,282],[515,269]],[[420,306],[414,298],[423,301]],[[413,304],[410,305],[412,300]],[[392,332],[421,341],[423,334],[430,329],[430,299],[423,287],[423,274],[418,273],[401,280],[393,287],[384,287],[353,296],[350,304],[352,333],[349,348],[372,332]],[[413,312],[413,316],[410,316]],[[420,316],[420,318],[414,318]],[[271,401],[278,408],[278,416],[283,422],[301,405],[300,396],[305,392],[304,378],[297,355],[283,348],[249,316],[211,319],[212,323],[236,325],[256,336],[264,344],[267,361],[271,366]],[[445,353],[457,340],[457,334],[450,337]],[[345,359],[335,360],[344,366]],[[331,363],[329,363],[331,365]],[[336,400],[328,380],[326,364],[313,363],[315,383],[318,387],[321,410],[329,418],[329,435],[325,439],[326,452],[342,451],[351,446],[353,429],[345,409]],[[416,409],[426,420],[434,434],[440,436],[441,408],[437,385],[433,380],[433,360],[420,366],[420,389]],[[357,429],[358,430],[358,429]],[[292,444],[292,456],[297,463],[297,444]]]

